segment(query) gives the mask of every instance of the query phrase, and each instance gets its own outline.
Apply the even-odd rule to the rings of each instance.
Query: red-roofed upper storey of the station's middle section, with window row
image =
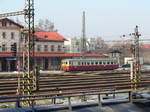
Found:
[[[35,52],[64,53],[63,36],[57,32],[36,32]]]

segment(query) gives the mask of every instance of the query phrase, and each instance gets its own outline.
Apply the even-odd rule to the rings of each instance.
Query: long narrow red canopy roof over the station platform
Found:
[[[11,53],[0,53],[0,57],[11,57]],[[35,53],[36,57],[80,57],[82,56],[79,53]],[[106,54],[84,54],[85,57],[106,57]]]

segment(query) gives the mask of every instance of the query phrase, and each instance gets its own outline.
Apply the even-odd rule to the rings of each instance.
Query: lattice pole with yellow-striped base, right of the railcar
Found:
[[[140,75],[141,75],[141,67],[140,67],[140,56],[139,56],[139,34],[138,26],[135,27],[133,44],[131,46],[132,52],[132,63],[131,63],[131,88],[136,91],[140,86]]]

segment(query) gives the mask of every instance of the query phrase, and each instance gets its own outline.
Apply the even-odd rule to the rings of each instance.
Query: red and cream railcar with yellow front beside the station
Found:
[[[61,69],[64,71],[114,70],[119,67],[115,58],[64,59]]]

